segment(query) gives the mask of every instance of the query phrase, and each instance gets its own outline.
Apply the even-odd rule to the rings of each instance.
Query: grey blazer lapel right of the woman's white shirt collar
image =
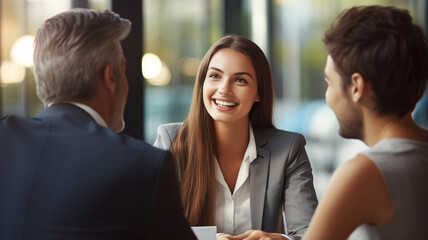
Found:
[[[254,131],[254,138],[257,145],[257,158],[250,165],[251,227],[262,229],[270,151],[262,147],[266,143],[263,131]]]

